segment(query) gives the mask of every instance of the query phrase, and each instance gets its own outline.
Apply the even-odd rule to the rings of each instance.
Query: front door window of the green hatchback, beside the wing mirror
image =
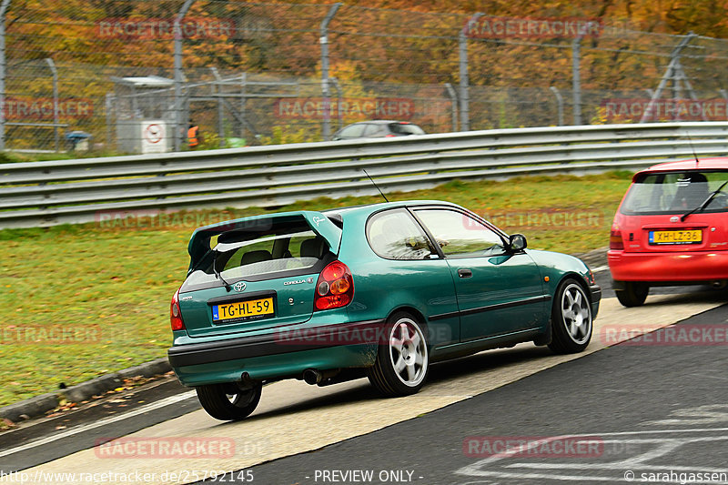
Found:
[[[415,214],[446,257],[495,256],[506,252],[500,235],[467,214],[450,209],[420,209]]]

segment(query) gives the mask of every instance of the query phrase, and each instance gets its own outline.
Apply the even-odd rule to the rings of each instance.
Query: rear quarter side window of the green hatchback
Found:
[[[370,217],[367,240],[382,258],[425,259],[437,254],[430,239],[405,209],[387,210]]]

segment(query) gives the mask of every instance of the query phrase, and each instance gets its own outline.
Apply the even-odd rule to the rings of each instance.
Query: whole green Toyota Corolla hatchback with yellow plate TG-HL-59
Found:
[[[198,228],[188,251],[169,362],[223,420],[279,379],[366,376],[404,396],[436,361],[528,341],[580,352],[602,295],[580,259],[440,201],[244,217]]]

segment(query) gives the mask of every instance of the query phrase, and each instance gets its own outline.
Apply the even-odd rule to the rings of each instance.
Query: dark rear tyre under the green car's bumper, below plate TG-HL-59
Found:
[[[248,418],[251,412],[258,407],[260,392],[263,386],[251,389],[238,389],[235,383],[209,384],[199,386],[197,399],[207,414],[221,421],[234,421]]]

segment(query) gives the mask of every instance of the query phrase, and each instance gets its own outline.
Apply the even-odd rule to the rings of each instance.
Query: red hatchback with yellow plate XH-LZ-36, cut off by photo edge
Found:
[[[650,287],[728,280],[728,157],[642,170],[612,222],[609,268],[622,305],[644,303]]]

